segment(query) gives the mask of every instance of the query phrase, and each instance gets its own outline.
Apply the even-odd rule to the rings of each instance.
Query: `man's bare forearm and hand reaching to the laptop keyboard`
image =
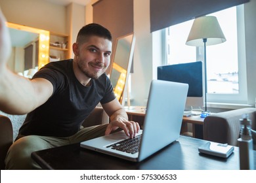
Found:
[[[129,121],[127,113],[121,107],[119,101],[114,99],[110,103],[102,105],[108,116],[110,116],[110,124],[106,129],[106,135],[110,134],[111,131],[116,130],[118,127],[125,131],[126,135],[130,138],[135,137],[136,133],[139,132],[140,126],[137,122]]]

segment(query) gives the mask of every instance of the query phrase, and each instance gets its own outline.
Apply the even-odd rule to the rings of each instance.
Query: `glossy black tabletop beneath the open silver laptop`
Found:
[[[224,159],[200,154],[198,147],[205,142],[201,139],[181,136],[160,152],[139,163],[85,150],[79,146],[79,143],[33,152],[32,158],[43,169],[240,169],[237,147],[229,158]],[[256,151],[253,154],[256,159]],[[254,162],[256,168],[256,160]]]

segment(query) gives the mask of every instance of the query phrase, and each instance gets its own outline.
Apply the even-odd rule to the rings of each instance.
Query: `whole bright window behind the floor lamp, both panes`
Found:
[[[242,52],[245,46],[241,38],[244,31],[238,29],[241,25],[244,5],[232,7],[213,14],[216,16],[226,37],[226,42],[207,46],[207,102],[213,103],[243,103],[245,91],[243,88],[243,68],[240,67],[244,58]],[[194,47],[185,44],[194,20],[167,28],[167,64],[203,61],[203,46]],[[240,47],[238,47],[240,42]],[[240,60],[240,61],[238,61]],[[240,65],[238,64],[240,63]]]

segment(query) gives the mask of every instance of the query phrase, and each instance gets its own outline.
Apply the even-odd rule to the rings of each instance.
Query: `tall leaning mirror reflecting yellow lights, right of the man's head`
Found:
[[[112,82],[114,93],[121,105],[125,105],[123,96],[128,86],[134,46],[135,36],[133,33],[117,38],[110,81]],[[127,99],[129,101],[129,92],[127,92]]]

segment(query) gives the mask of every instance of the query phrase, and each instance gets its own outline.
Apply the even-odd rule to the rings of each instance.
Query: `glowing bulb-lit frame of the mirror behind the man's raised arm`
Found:
[[[39,50],[38,50],[38,69],[49,63],[49,37],[50,32],[43,29],[37,29],[34,27],[28,27],[26,25],[14,24],[7,22],[7,27],[12,29],[18,29],[20,31],[28,31],[31,33],[39,34]]]

